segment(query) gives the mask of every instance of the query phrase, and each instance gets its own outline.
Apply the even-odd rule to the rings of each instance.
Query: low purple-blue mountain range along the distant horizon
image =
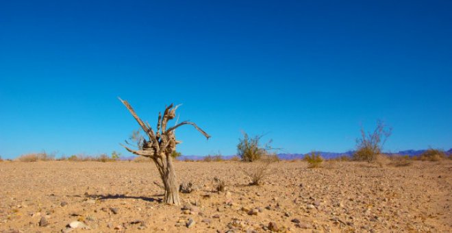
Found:
[[[426,151],[426,149],[407,149],[405,151],[399,151],[397,153],[387,153],[389,155],[403,155],[403,156],[418,156],[420,154],[423,154]],[[337,152],[326,152],[326,151],[316,151],[321,154],[323,158],[330,159],[330,158],[338,158],[340,156],[353,156],[353,153],[355,151],[346,151],[342,153]],[[449,149],[448,151],[445,151],[447,154],[452,154],[452,149]],[[310,154],[310,153],[307,153]],[[303,159],[305,158],[305,155],[307,154],[278,154],[278,157],[280,160],[296,160],[296,159]],[[235,156],[235,155],[234,155]],[[230,158],[234,156],[221,156],[224,160],[229,160]],[[128,157],[121,157],[121,160],[132,160],[136,156],[128,156]],[[178,160],[203,160],[205,156],[180,156]]]

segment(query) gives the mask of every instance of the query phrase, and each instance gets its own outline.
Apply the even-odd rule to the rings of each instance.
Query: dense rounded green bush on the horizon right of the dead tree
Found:
[[[264,146],[260,145],[260,139],[263,135],[250,138],[247,133],[243,132],[243,138],[239,138],[237,145],[237,154],[244,162],[253,162],[259,160],[262,156],[267,156],[271,148],[271,140]]]

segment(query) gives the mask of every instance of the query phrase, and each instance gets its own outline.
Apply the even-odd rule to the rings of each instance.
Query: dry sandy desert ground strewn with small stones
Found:
[[[160,203],[149,162],[0,162],[0,232],[452,231],[452,161],[275,162],[262,186],[247,185],[249,163],[175,168],[198,186],[181,193],[182,206]],[[214,192],[214,177],[225,192]]]

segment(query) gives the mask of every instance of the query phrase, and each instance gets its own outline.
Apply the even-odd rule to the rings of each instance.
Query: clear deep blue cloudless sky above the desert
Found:
[[[125,153],[183,103],[186,155],[452,147],[452,1],[1,1],[0,156]]]

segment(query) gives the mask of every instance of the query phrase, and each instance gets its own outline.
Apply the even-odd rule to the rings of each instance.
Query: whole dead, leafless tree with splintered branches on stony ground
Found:
[[[157,131],[154,132],[149,123],[144,123],[140,117],[136,114],[134,109],[130,104],[119,98],[125,107],[129,110],[132,116],[136,119],[142,130],[147,134],[148,140],[142,139],[138,143],[138,149],[130,149],[129,147],[122,145],[127,151],[138,156],[145,156],[151,158],[155,165],[157,166],[160,178],[164,184],[165,197],[164,201],[166,204],[179,205],[179,186],[176,184],[176,175],[173,167],[173,157],[171,154],[176,150],[176,145],[180,142],[176,140],[175,130],[181,125],[192,125],[206,138],[210,136],[205,133],[201,128],[199,128],[195,123],[190,121],[181,122],[173,127],[166,128],[168,121],[175,118],[175,112],[179,106],[174,106],[171,103],[170,106],[166,107],[163,116],[162,113],[158,114]],[[127,140],[126,140],[127,143]]]

